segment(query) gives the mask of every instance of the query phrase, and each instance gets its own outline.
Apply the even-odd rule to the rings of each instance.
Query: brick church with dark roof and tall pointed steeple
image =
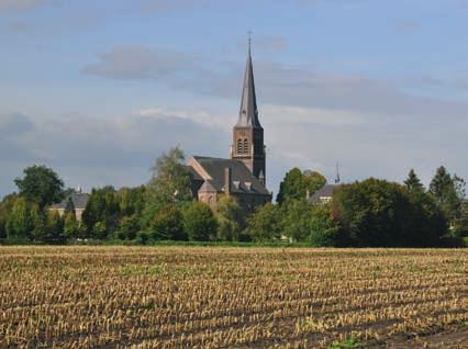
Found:
[[[230,153],[229,159],[193,156],[188,160],[197,199],[214,210],[222,195],[233,196],[246,212],[270,202],[272,193],[266,189],[264,128],[258,119],[250,44]]]

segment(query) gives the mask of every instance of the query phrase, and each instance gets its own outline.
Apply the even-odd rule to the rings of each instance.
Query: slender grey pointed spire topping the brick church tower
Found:
[[[258,121],[257,98],[255,95],[254,68],[252,66],[250,45],[252,45],[252,37],[249,33],[247,64],[245,67],[241,110],[239,110],[238,121],[236,126],[260,128],[261,125],[260,125],[260,122]]]

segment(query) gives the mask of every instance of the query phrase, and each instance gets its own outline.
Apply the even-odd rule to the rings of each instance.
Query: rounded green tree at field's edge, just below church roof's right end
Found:
[[[282,233],[282,211],[279,205],[270,202],[258,206],[247,218],[247,234],[255,241],[279,240]]]

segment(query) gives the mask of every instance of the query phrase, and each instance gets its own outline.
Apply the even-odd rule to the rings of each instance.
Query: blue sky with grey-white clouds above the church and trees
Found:
[[[31,165],[90,191],[229,157],[249,31],[274,194],[336,162],[468,179],[468,0],[0,0],[0,196]]]

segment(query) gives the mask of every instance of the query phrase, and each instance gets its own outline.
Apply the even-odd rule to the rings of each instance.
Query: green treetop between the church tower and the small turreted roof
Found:
[[[312,195],[320,188],[325,185],[326,179],[315,171],[305,170],[301,172],[299,168],[293,168],[286,173],[279,185],[277,202],[282,204],[288,200],[304,199],[307,192]]]

